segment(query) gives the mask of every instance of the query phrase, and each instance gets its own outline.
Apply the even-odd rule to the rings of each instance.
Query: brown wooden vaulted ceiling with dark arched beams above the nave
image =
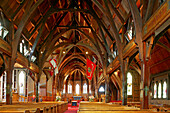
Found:
[[[14,22],[15,29],[32,1],[35,4],[39,0],[2,0],[1,6]],[[48,68],[49,60],[57,58],[59,74],[64,76],[75,70],[85,74],[86,58],[92,56],[103,65],[102,57],[105,53],[111,54],[115,40],[100,5],[105,7],[103,0],[43,0],[22,31],[32,47],[31,55],[39,54],[38,65]],[[140,0],[137,6],[140,6]],[[121,33],[121,27],[130,15],[128,3],[126,0],[110,0],[108,7]]]

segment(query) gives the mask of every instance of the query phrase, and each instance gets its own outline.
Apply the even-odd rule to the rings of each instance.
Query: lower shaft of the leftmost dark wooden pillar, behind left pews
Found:
[[[11,59],[9,59],[9,65],[7,68],[7,79],[6,79],[6,104],[12,104],[12,68]]]

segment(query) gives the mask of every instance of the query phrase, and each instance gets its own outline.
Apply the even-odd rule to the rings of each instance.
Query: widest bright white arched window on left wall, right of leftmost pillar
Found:
[[[19,94],[24,94],[25,87],[25,72],[21,71],[19,74]]]

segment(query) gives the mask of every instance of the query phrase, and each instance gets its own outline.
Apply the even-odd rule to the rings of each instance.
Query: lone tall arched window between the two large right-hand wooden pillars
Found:
[[[132,75],[127,73],[127,95],[132,95]]]

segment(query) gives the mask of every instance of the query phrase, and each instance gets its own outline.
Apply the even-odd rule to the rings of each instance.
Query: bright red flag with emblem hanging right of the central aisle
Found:
[[[87,73],[87,78],[89,80],[92,80],[93,72],[94,72],[95,68],[96,68],[96,64],[93,63],[91,60],[87,59],[87,71],[86,71],[86,73]]]

